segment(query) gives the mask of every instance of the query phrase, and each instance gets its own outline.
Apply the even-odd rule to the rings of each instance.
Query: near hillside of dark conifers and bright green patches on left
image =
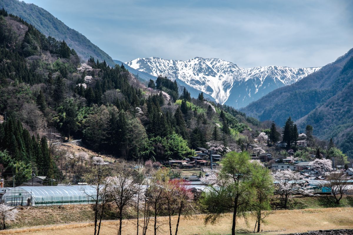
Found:
[[[16,182],[30,178],[32,169],[49,179],[62,177],[70,153],[48,149],[51,132],[80,138],[102,154],[163,162],[193,155],[197,147],[238,149],[260,129],[258,120],[206,101],[202,93],[193,99],[168,78],[146,87],[124,65],[112,68],[93,57],[82,63],[65,41],[5,10],[0,61],[0,114],[6,113],[0,164],[8,177],[16,173]]]

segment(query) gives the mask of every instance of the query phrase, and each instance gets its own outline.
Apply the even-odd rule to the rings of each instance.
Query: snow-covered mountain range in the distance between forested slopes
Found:
[[[211,95],[218,103],[235,108],[244,107],[274,89],[290,85],[320,69],[281,66],[240,68],[222,59],[201,57],[187,61],[137,58],[126,64],[153,76],[180,80]]]

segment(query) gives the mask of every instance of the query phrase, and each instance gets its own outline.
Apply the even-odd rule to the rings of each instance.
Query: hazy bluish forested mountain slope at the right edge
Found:
[[[333,137],[352,156],[353,49],[295,84],[276,89],[241,111],[260,120],[283,125],[291,116],[299,130],[314,127],[320,138]]]

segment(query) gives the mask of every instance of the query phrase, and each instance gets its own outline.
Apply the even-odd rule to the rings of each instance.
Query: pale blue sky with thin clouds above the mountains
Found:
[[[240,67],[318,67],[353,47],[353,1],[25,0],[113,59],[223,58]]]

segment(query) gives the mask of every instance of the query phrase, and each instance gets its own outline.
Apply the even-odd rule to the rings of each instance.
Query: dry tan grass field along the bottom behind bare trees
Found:
[[[327,208],[327,209],[304,209],[304,210],[279,210],[274,211],[273,214],[267,218],[267,224],[263,225],[262,229],[271,230],[271,232],[263,232],[261,234],[288,234],[295,232],[304,232],[308,230],[319,229],[344,229],[353,228],[353,208]],[[192,218],[181,219],[179,226],[180,235],[227,235],[230,234],[231,229],[231,215],[222,218],[216,224],[204,225],[203,215],[197,215]],[[158,218],[161,230],[158,234],[169,234],[168,218]],[[176,222],[176,217],[173,217],[173,224]],[[240,218],[237,221],[237,229],[239,234],[245,234],[253,231],[254,221],[248,220],[248,224],[244,219]],[[115,235],[117,222],[106,221],[102,223],[102,235]],[[152,225],[152,224],[151,224]],[[6,235],[84,235],[93,234],[94,227],[92,223],[73,223],[73,224],[59,224],[29,227],[21,229],[11,229],[0,231],[0,234]],[[152,229],[152,227],[150,227]],[[173,226],[175,229],[175,226]],[[275,230],[275,231],[274,231]],[[124,235],[136,234],[135,221],[124,221],[124,228],[122,231]],[[148,235],[153,234],[150,230]]]

